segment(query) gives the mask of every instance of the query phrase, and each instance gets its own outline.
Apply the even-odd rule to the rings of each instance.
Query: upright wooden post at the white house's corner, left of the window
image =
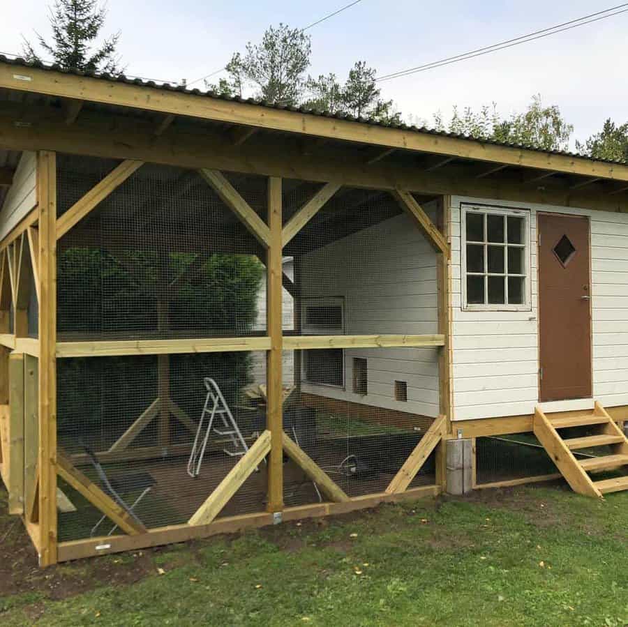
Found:
[[[450,241],[451,197],[438,199],[438,226],[447,242]],[[438,287],[438,333],[444,335],[444,345],[438,354],[439,411],[447,418],[447,433],[451,433],[451,275],[449,258],[444,252],[436,253],[436,281]],[[447,439],[443,438],[436,448],[436,483],[442,490],[447,483]]]

